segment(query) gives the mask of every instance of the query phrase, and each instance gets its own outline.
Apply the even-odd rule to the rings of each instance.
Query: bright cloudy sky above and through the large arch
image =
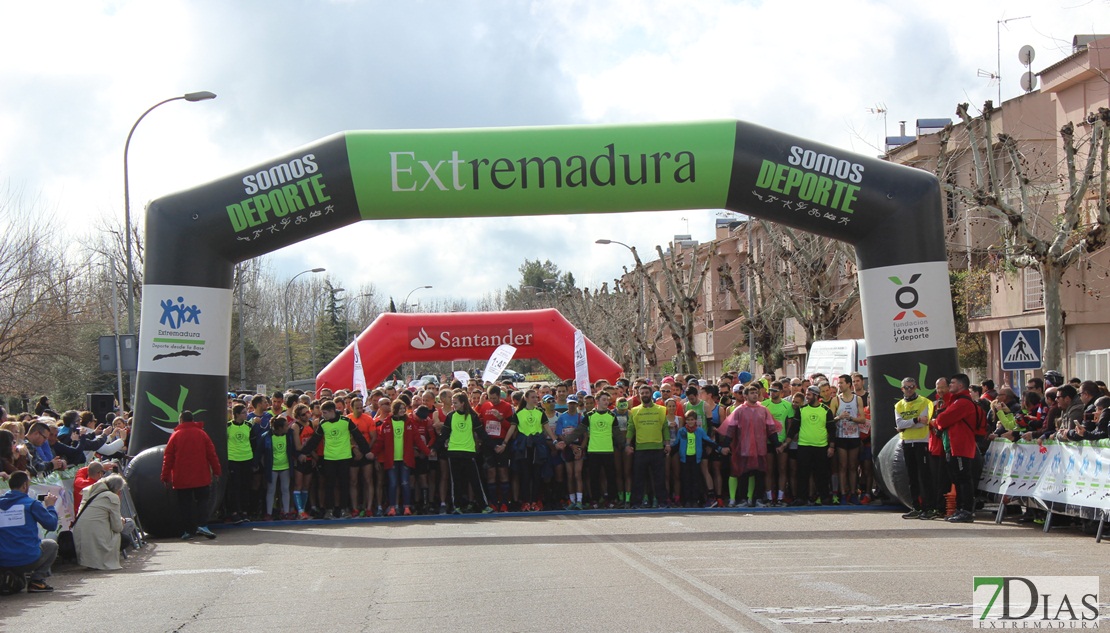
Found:
[[[1026,18],[1028,17],[1028,18]],[[1008,21],[1001,27],[999,20]],[[345,130],[741,119],[864,154],[898,121],[1020,93],[1032,69],[1110,32],[1108,0],[95,0],[0,4],[0,194],[38,200],[74,240],[132,212]],[[1000,33],[1000,37],[999,37]],[[2,212],[2,208],[0,208]],[[717,210],[362,222],[269,255],[284,278],[474,300],[545,258],[598,284]],[[121,220],[119,220],[121,221]],[[484,265],[460,273],[460,252]],[[345,263],[334,264],[336,255]]]

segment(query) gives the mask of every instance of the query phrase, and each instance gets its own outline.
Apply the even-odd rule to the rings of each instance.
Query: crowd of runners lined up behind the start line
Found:
[[[743,379],[743,380],[741,380]],[[225,518],[866,504],[859,374],[229,394]],[[800,484],[799,484],[800,482]]]

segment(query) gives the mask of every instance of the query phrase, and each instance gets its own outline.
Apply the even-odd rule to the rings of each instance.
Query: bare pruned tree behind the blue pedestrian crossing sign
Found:
[[[1062,191],[1058,194],[1051,192],[1051,180],[1033,180],[1017,139],[1000,133],[996,144],[991,122],[995,111],[991,101],[986,102],[979,117],[971,117],[967,103],[957,107],[956,113],[968,133],[973,164],[972,185],[960,187],[950,179],[941,178],[942,187],[973,209],[983,210],[1000,220],[1003,244],[999,252],[1007,264],[1040,272],[1045,288],[1043,366],[1062,369],[1064,314],[1060,304],[1060,288],[1063,274],[1082,255],[1093,253],[1107,243],[1110,224],[1107,199],[1110,109],[1099,108],[1097,114],[1088,117],[1086,123],[1090,124],[1091,131],[1086,139],[1077,141],[1076,127],[1070,122],[1060,128],[1063,165],[1049,177],[1060,180]],[[952,127],[948,125],[940,134],[938,174],[949,170],[951,133]],[[1094,195],[1089,194],[1092,189]],[[1090,209],[1091,205],[1093,209]]]

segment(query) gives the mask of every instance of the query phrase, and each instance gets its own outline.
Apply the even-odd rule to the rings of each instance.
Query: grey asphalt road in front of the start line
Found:
[[[3,631],[967,631],[975,575],[1100,575],[1074,529],[870,508],[246,524],[0,597]],[[1102,623],[1110,609],[1103,606]]]

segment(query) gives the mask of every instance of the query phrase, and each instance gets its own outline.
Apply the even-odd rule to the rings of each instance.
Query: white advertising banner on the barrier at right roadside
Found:
[[[991,442],[979,490],[1110,510],[1110,442]]]

